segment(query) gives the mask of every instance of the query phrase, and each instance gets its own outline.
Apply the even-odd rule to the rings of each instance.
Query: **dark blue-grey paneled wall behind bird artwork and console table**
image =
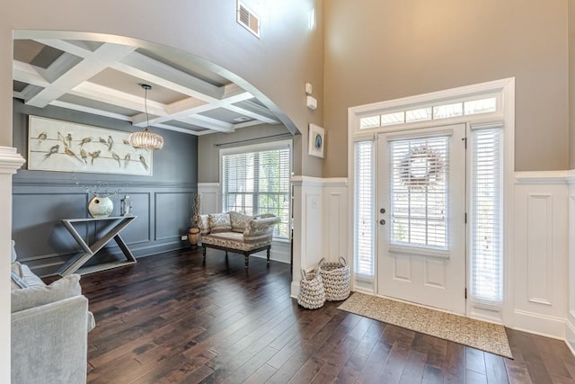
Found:
[[[28,116],[44,116],[96,127],[133,131],[126,121],[116,121],[57,107],[43,109],[13,102],[13,145],[19,153],[28,151]],[[119,215],[119,198],[130,196],[137,216],[121,232],[130,250],[138,257],[189,246],[180,240],[187,233],[193,193],[198,191],[198,138],[162,130],[164,148],[154,154],[153,176],[125,174],[76,174],[80,184],[97,182],[121,188],[112,215]],[[86,218],[88,196],[67,172],[28,171],[13,176],[13,239],[19,259],[35,272],[57,272],[75,255],[79,246],[60,219]],[[93,241],[93,225],[79,227],[79,233]],[[102,228],[98,228],[102,229]],[[123,257],[112,240],[98,254],[98,262]]]

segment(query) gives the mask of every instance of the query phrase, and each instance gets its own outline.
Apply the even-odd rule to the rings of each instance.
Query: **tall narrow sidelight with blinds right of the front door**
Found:
[[[476,304],[503,299],[502,129],[472,131],[472,295]]]

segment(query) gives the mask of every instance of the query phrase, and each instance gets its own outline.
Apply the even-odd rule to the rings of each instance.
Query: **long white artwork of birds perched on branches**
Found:
[[[28,169],[152,175],[152,150],[132,147],[130,132],[30,116]]]

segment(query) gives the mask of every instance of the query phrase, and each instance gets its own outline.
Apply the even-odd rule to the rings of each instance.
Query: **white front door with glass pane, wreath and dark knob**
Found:
[[[377,139],[377,293],[465,313],[465,126]]]

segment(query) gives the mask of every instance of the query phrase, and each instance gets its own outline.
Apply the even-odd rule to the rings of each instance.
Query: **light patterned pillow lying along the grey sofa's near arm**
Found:
[[[12,291],[12,312],[39,307],[82,294],[80,275],[70,274],[44,287],[29,287]]]

